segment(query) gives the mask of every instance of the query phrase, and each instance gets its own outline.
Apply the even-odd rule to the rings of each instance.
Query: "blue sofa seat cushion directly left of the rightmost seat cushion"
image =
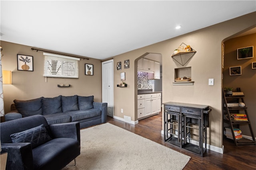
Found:
[[[55,113],[50,115],[44,115],[44,117],[48,125],[71,122],[70,115],[66,113]]]

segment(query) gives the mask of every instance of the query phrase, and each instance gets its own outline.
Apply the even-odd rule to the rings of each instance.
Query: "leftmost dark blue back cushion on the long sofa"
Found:
[[[43,97],[32,100],[14,100],[13,102],[18,112],[22,114],[22,117],[28,117],[42,115],[42,99]]]

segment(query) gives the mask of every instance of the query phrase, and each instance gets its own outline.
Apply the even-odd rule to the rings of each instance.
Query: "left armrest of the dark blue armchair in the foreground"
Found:
[[[1,143],[2,152],[7,152],[7,170],[34,169],[30,143]]]

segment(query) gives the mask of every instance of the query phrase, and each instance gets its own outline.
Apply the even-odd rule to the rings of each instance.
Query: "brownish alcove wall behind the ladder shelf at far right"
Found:
[[[237,60],[237,49],[254,46],[254,57]],[[254,135],[256,133],[256,69],[252,69],[252,62],[256,62],[256,33],[236,37],[224,42],[223,87],[231,86],[233,91],[240,87],[244,92],[244,103],[251,121]],[[242,75],[230,76],[229,67],[242,66]],[[250,135],[248,125],[241,125],[243,135]]]

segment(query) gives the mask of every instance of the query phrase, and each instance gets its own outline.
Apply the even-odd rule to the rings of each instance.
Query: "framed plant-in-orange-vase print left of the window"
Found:
[[[34,71],[33,56],[17,54],[17,68],[22,71]]]

